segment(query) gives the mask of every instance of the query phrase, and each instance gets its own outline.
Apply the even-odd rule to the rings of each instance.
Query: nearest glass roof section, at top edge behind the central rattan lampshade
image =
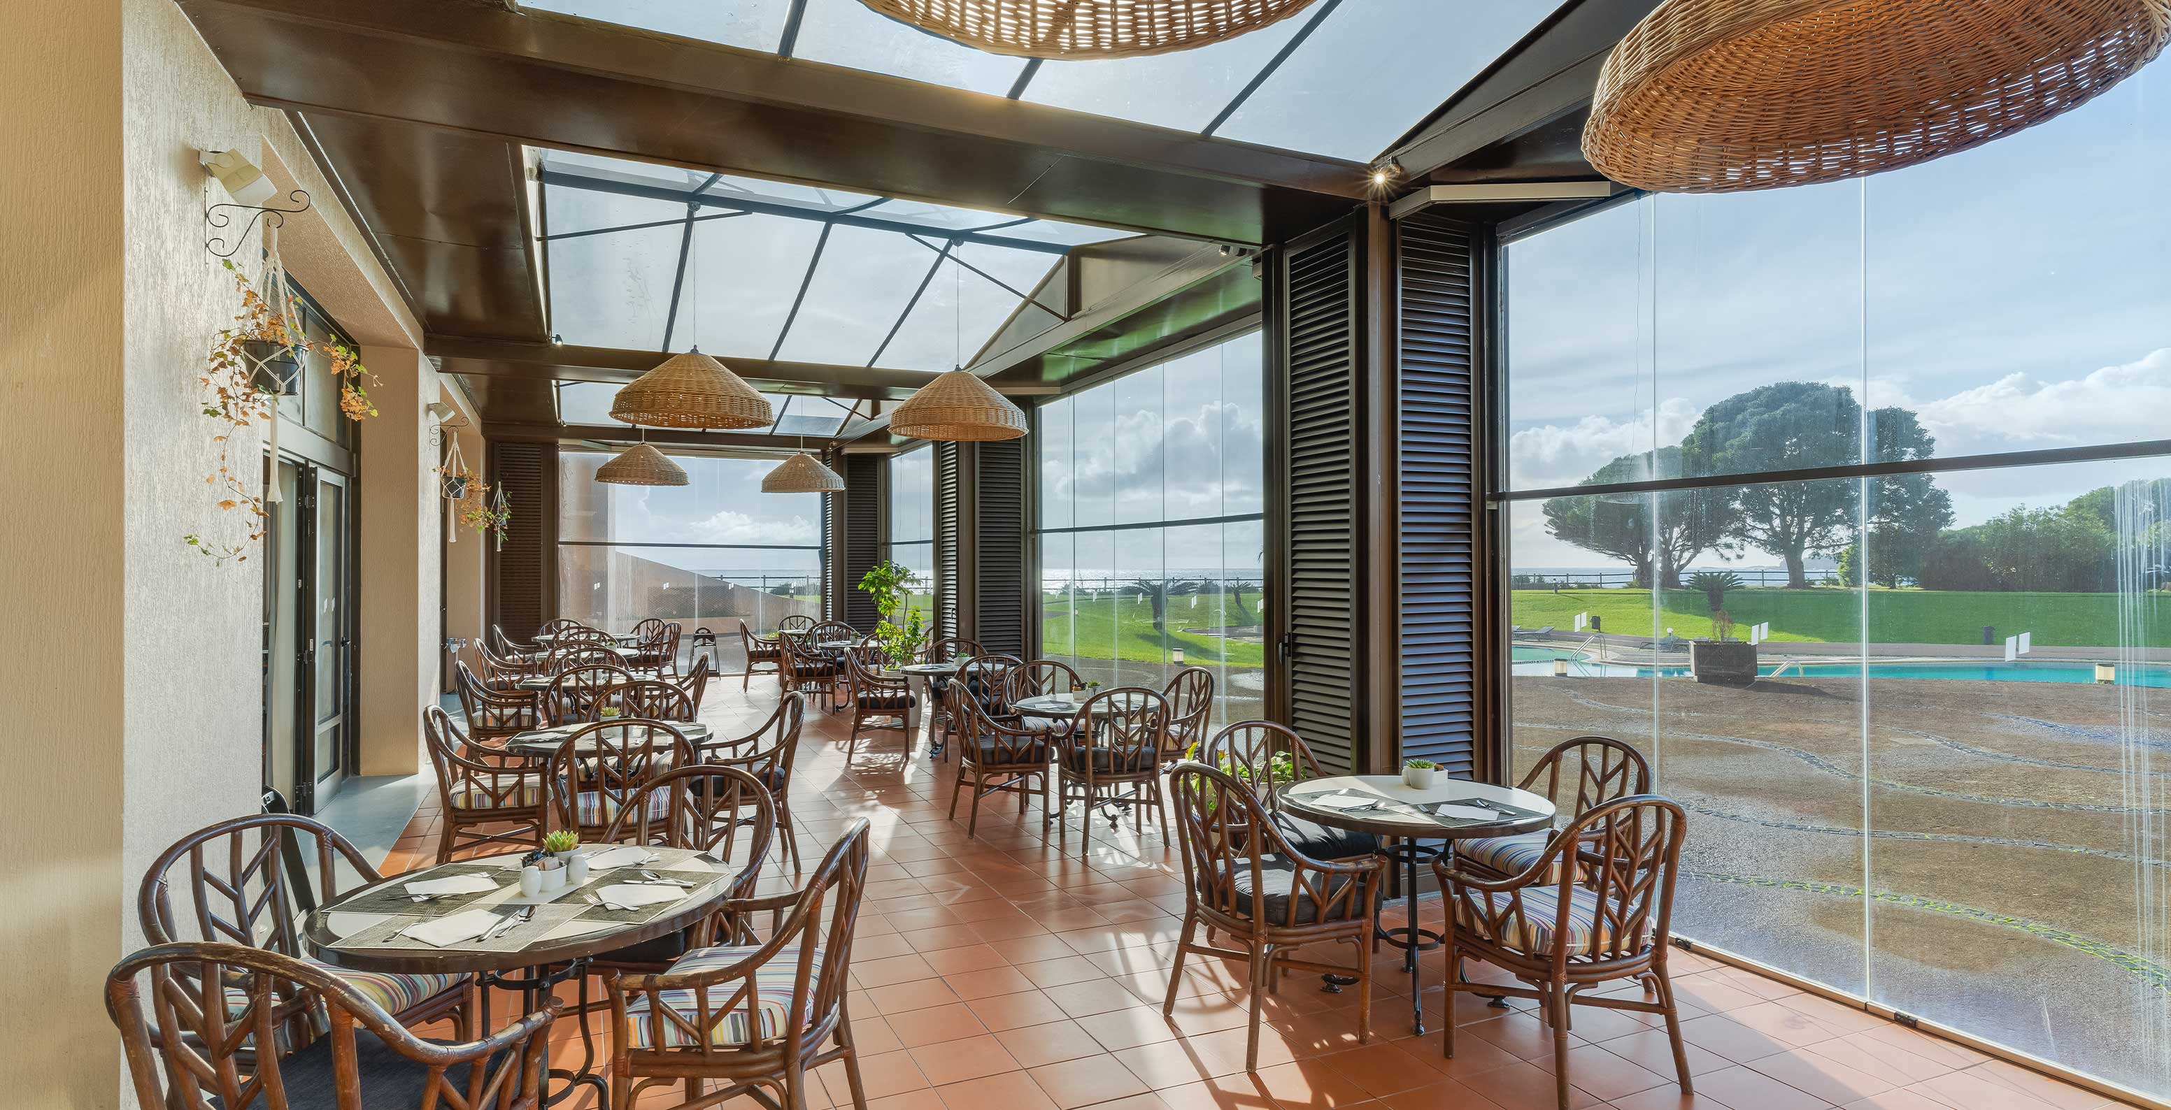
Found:
[[[970,93],[1370,163],[1559,0],[1318,0],[1201,50],[1146,59],[986,54],[860,0],[523,0],[612,24]]]

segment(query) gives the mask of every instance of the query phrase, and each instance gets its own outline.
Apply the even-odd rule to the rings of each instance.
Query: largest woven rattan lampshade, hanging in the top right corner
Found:
[[[1583,154],[1667,193],[1926,163],[2089,102],[2171,0],[1665,0],[1598,76]]]

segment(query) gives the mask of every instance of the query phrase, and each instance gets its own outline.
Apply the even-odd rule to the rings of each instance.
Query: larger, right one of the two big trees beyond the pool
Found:
[[[1930,457],[1937,447],[1921,421],[1904,408],[1874,410],[1867,423],[1867,462]],[[1680,453],[1685,475],[1769,475],[1865,462],[1861,444],[1863,408],[1854,390],[1821,382],[1778,382],[1706,408],[1680,442]],[[1893,522],[1889,538],[1895,544],[1919,540],[1917,548],[1928,546],[1928,535],[1952,522],[1952,499],[1928,475],[1874,481],[1869,525],[1878,529],[1880,522]],[[1748,483],[1732,488],[1728,503],[1728,540],[1778,555],[1787,564],[1787,585],[1795,590],[1808,585],[1808,555],[1839,553],[1861,531],[1863,496],[1856,479]],[[1919,551],[1915,559],[1919,562]]]

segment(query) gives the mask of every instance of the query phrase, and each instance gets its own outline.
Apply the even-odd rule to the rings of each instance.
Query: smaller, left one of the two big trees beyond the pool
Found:
[[[1611,486],[1680,477],[1680,449],[1622,455],[1578,486]],[[1546,531],[1585,551],[1611,555],[1635,568],[1635,585],[1680,588],[1680,568],[1704,551],[1722,548],[1728,531],[1726,490],[1663,490],[1643,494],[1567,494],[1544,503]],[[1656,525],[1654,525],[1656,520]]]

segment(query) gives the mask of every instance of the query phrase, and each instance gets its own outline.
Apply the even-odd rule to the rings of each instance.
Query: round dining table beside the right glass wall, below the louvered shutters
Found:
[[[1402,865],[1402,898],[1409,924],[1396,932],[1379,928],[1379,939],[1402,950],[1409,971],[1411,1030],[1424,1036],[1424,1004],[1418,982],[1418,952],[1444,943],[1435,930],[1418,926],[1418,863],[1455,850],[1455,841],[1515,837],[1552,828],[1554,806],[1544,793],[1439,776],[1429,789],[1402,785],[1400,774],[1340,774],[1311,778],[1281,791],[1281,806],[1307,822],[1350,832],[1372,832],[1394,841],[1383,854]],[[1422,841],[1444,841],[1431,846]],[[1455,906],[1448,906],[1455,913]],[[1446,928],[1455,928],[1450,919]],[[1448,969],[1452,973],[1455,969]],[[1329,989],[1342,980],[1331,978]]]

